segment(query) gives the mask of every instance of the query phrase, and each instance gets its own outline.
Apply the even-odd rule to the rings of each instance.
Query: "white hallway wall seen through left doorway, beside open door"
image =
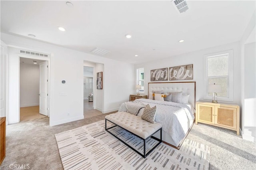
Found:
[[[20,63],[20,107],[39,105],[39,65]]]

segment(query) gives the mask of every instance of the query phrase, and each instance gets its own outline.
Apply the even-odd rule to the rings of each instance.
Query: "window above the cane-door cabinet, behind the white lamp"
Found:
[[[204,99],[212,99],[208,85],[221,85],[219,101],[233,101],[233,50],[204,55]]]

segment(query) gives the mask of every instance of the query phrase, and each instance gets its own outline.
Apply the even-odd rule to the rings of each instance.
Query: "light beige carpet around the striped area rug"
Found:
[[[54,127],[49,126],[48,117],[8,125],[1,170],[10,169],[10,164],[30,164],[31,170],[62,170],[54,134],[103,120],[105,115]],[[233,130],[198,123],[187,139],[210,147],[210,170],[256,169],[256,143],[242,139]]]

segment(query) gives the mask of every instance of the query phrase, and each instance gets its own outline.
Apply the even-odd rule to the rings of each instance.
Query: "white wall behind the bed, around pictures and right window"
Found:
[[[196,100],[203,100],[204,87],[203,85],[203,56],[205,54],[216,53],[220,51],[234,50],[234,101],[240,105],[240,44],[239,42],[229,43],[212,47],[208,49],[202,49],[200,51],[194,51],[182,55],[168,57],[161,60],[152,62],[146,62],[143,64],[135,65],[136,68],[144,67],[144,79],[145,79],[145,93],[148,94],[147,84],[150,82],[150,70],[160,69],[166,67],[174,67],[179,65],[193,64],[193,80],[182,81],[196,81]],[[157,82],[157,81],[154,81]],[[159,81],[159,82],[175,82],[175,81]]]

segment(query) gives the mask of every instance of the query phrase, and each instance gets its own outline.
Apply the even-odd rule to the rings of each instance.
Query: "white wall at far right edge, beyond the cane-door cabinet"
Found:
[[[250,52],[250,47],[249,47],[249,51],[246,51],[245,50],[245,46],[247,43],[252,43],[252,42],[255,42],[255,26],[256,26],[256,16],[255,16],[255,12],[254,14],[252,15],[252,18],[250,20],[250,22],[248,23],[247,27],[246,27],[246,30],[244,31],[244,34],[240,40],[240,48],[241,48],[241,113],[240,113],[240,128],[241,128],[241,134],[242,134],[242,137],[246,140],[250,140],[250,141],[254,141],[256,142],[256,137],[255,137],[255,134],[253,134],[253,131],[252,129],[255,129],[256,128],[256,125],[252,125],[252,123],[250,123],[250,120],[251,121],[254,121],[254,123],[256,122],[256,112],[254,111],[249,111],[248,112],[248,109],[252,108],[253,105],[255,106],[255,102],[253,102],[253,100],[251,100],[250,98],[246,99],[246,96],[247,93],[246,92],[246,89],[247,89],[247,84],[250,83],[250,81],[248,82],[247,76],[245,76],[247,73],[246,73],[246,68],[247,67],[251,67],[251,64],[248,63],[248,61],[250,61],[250,58],[253,57],[253,55],[250,55],[253,54],[252,51]],[[250,42],[248,42],[248,40]],[[249,57],[248,59],[245,59],[246,57]],[[254,56],[255,57],[255,56]],[[252,59],[252,58],[251,58]],[[255,64],[254,63],[254,67],[255,67]],[[254,77],[256,76],[256,73],[254,72]],[[253,78],[252,78],[253,79]],[[254,86],[255,88],[255,86]],[[255,109],[255,107],[254,107]],[[250,120],[248,120],[250,119]]]

